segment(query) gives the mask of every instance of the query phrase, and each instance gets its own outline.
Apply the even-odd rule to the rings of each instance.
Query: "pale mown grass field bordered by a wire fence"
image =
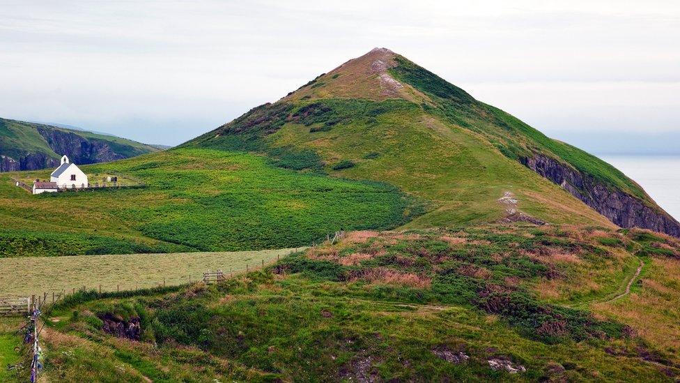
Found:
[[[203,272],[240,273],[269,264],[294,249],[231,253],[74,255],[0,259],[0,296],[29,296],[72,289],[102,291],[182,285],[201,280]],[[51,295],[50,295],[51,296]]]

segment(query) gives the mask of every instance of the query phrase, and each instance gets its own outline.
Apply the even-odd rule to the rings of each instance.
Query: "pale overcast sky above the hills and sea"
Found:
[[[585,149],[680,152],[679,42],[677,0],[0,0],[0,117],[178,144],[388,47]]]

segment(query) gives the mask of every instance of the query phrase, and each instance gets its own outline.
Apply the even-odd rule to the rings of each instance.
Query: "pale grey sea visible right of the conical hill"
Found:
[[[680,156],[596,156],[635,180],[662,209],[680,220]]]

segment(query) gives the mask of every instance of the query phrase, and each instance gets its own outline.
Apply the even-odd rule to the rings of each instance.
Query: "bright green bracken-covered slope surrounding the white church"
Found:
[[[0,256],[231,251],[307,246],[337,230],[388,229],[412,214],[393,186],[298,173],[262,156],[206,149],[82,169],[146,188],[31,195],[0,175]]]

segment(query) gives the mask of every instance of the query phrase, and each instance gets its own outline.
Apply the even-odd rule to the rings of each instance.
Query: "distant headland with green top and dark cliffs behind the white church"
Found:
[[[99,163],[158,151],[121,137],[0,119],[0,172],[59,165],[66,154],[78,164]]]

